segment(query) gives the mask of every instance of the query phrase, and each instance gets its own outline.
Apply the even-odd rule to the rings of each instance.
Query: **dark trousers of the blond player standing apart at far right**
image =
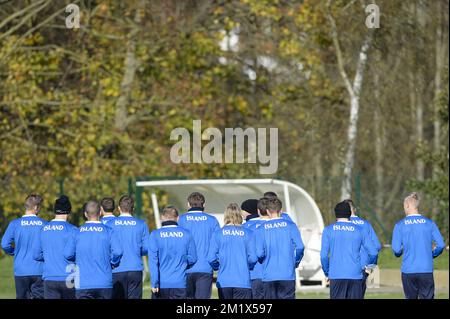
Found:
[[[434,299],[433,273],[402,273],[402,283],[406,299]]]

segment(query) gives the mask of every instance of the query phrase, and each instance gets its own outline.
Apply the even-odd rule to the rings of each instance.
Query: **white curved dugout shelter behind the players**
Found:
[[[217,217],[221,225],[223,212],[229,203],[241,204],[246,199],[259,199],[267,191],[277,193],[283,202],[283,211],[298,225],[306,247],[298,279],[323,283],[319,256],[324,228],[322,215],[312,197],[298,185],[276,179],[203,179],[138,181],[136,186],[151,189],[157,227],[161,223],[156,189],[164,191],[170,204],[180,210],[187,206],[190,193],[201,192],[206,198],[205,211]]]

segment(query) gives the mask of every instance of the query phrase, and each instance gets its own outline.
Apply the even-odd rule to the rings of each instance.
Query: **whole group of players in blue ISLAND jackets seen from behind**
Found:
[[[304,245],[297,225],[273,192],[259,200],[226,207],[224,226],[205,212],[205,197],[194,192],[188,211],[174,206],[161,214],[162,227],[149,233],[132,216],[134,201],[122,196],[118,216],[113,198],[84,205],[86,222],[67,222],[67,196],[54,205],[55,218],[37,216],[42,197],[29,195],[25,215],[8,226],[1,245],[14,256],[18,299],[140,299],[143,256],[148,256],[152,299],[209,299],[213,272],[221,299],[294,299],[295,270]],[[404,200],[392,250],[403,255],[405,297],[433,298],[433,258],[444,241],[433,221],[419,214],[419,198]],[[381,244],[374,229],[356,215],[351,200],[336,205],[336,222],[322,234],[321,263],[332,299],[364,298],[366,279]]]

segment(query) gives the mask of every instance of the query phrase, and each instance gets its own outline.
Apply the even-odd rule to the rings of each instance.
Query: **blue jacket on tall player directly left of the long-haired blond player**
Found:
[[[190,231],[197,249],[197,262],[187,272],[212,273],[212,267],[208,262],[208,252],[212,235],[220,229],[217,219],[198,208],[191,208],[180,216],[178,224]]]

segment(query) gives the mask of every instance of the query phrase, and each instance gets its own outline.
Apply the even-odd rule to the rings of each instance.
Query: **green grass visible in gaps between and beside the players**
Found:
[[[390,249],[383,249],[380,253],[378,264],[381,269],[399,269],[401,264],[401,258],[395,258],[390,251]],[[436,270],[448,270],[449,264],[449,252],[444,251],[442,256],[435,259],[435,269]],[[0,299],[4,298],[14,298],[14,277],[13,277],[13,259],[8,256],[0,257]],[[328,299],[329,295],[325,291],[306,291],[298,292],[298,299]],[[150,298],[150,285],[149,281],[146,280],[144,284],[144,298]],[[213,298],[217,298],[217,291],[213,290]],[[448,299],[448,291],[438,291],[436,293],[436,298]],[[395,292],[382,292],[379,293],[377,290],[368,291],[366,294],[366,299],[403,299],[403,294],[401,291]]]

